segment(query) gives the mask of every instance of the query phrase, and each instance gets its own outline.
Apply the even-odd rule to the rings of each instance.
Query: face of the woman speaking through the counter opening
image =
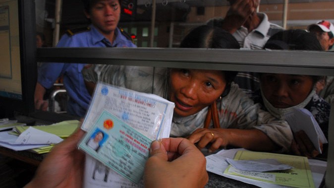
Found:
[[[222,70],[172,68],[169,100],[175,103],[174,113],[183,117],[196,114],[217,100],[225,85]]]

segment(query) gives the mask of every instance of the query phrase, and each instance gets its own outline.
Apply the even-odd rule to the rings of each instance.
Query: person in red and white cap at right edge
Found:
[[[321,20],[308,26],[307,30],[317,35],[324,51],[332,49],[334,44],[334,25],[331,22]]]

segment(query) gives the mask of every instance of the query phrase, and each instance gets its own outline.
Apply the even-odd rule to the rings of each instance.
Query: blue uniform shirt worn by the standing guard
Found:
[[[136,47],[129,39],[115,30],[113,44],[106,39],[93,25],[90,30],[69,36],[63,35],[57,47]],[[89,95],[81,70],[83,63],[42,63],[38,69],[38,83],[45,88],[51,88],[56,79],[63,75],[63,84],[69,96],[67,113],[84,117],[88,109],[91,96]]]

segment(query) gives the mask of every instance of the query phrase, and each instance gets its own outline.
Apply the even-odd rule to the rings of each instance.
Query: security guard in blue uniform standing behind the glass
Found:
[[[82,1],[91,25],[68,30],[57,47],[136,47],[131,38],[117,28],[120,18],[119,0]],[[84,66],[83,63],[43,63],[38,69],[35,108],[47,110],[48,102],[43,100],[46,88],[51,88],[56,79],[63,75],[63,84],[69,96],[67,113],[84,117],[91,100],[81,74]]]

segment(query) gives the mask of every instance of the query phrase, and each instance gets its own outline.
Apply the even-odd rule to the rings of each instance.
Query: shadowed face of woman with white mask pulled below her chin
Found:
[[[313,89],[308,75],[271,74],[261,76],[262,92],[275,108],[288,108],[303,102]]]

